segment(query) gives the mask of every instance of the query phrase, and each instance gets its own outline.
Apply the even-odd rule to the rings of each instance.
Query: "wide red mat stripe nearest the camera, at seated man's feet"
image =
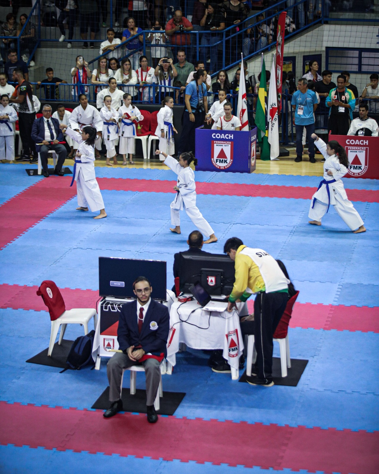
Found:
[[[274,424],[63,410],[0,402],[0,444],[72,449],[75,452],[150,456],[167,461],[305,469],[343,474],[377,474],[379,433],[364,430],[290,428]],[[357,454],[359,453],[359,454]]]

